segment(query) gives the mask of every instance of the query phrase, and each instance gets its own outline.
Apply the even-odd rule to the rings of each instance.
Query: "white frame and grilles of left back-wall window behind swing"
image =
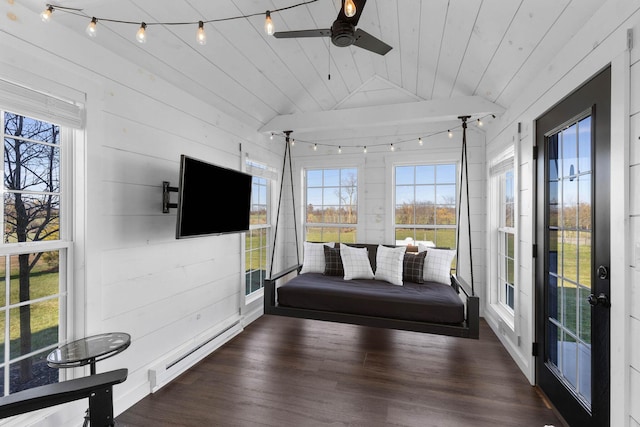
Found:
[[[343,170],[354,170],[356,173],[355,179],[355,204],[351,204],[348,206],[355,206],[356,209],[356,221],[355,222],[308,222],[307,221],[307,208],[309,206],[308,201],[308,173],[309,171],[322,171],[323,173],[323,184],[324,184],[324,172],[325,171],[339,171],[339,185],[338,186],[316,186],[312,188],[316,189],[325,189],[325,188],[338,188],[342,189],[343,187],[347,187],[346,185],[342,185],[342,171]],[[302,168],[302,234],[303,241],[308,241],[308,229],[309,228],[319,228],[319,229],[338,229],[338,239],[312,239],[313,241],[332,241],[332,242],[342,242],[342,243],[357,243],[358,242],[358,228],[360,223],[360,212],[361,212],[361,188],[360,188],[360,168],[358,166],[350,166],[350,165],[336,165],[334,167],[327,166],[307,166]],[[340,199],[340,197],[338,197]],[[334,205],[322,205],[322,206],[334,206]],[[339,204],[337,206],[343,206],[341,201],[339,200]],[[353,239],[343,240],[342,230],[343,229],[353,229]]]

